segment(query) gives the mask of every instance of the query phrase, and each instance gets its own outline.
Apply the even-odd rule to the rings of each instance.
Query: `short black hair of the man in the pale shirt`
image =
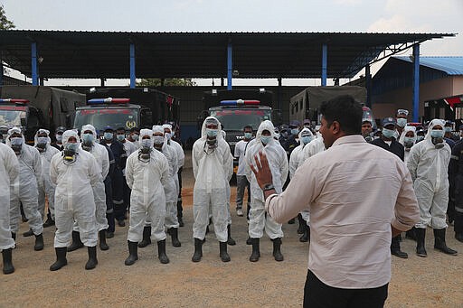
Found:
[[[350,95],[341,95],[323,102],[320,113],[325,117],[328,127],[336,121],[346,135],[356,135],[362,131],[364,111],[362,105]]]

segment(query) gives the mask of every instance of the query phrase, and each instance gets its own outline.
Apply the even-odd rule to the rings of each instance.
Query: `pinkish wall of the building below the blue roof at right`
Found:
[[[463,94],[463,76],[449,76],[443,79],[420,83],[420,116],[424,115],[424,101]],[[375,118],[395,116],[399,108],[410,111],[412,118],[412,88],[395,89],[372,97],[372,109]]]

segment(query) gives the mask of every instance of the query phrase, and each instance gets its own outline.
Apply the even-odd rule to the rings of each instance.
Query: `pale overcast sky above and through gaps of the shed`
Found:
[[[458,33],[421,44],[420,54],[463,56],[463,0],[0,0],[0,4],[17,29]],[[377,69],[373,66],[373,72]],[[283,84],[288,82],[308,81]]]

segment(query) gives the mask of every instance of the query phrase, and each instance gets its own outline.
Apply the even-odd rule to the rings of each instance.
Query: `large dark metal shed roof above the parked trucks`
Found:
[[[137,33],[0,31],[0,55],[31,75],[31,42],[43,78],[128,78],[129,44],[136,45],[137,78],[227,76],[227,45],[239,78],[318,78],[322,44],[327,77],[352,78],[364,65],[452,33]]]

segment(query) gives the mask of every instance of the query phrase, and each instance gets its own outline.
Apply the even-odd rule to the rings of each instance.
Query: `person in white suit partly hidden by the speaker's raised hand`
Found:
[[[254,145],[246,152],[246,176],[250,182],[250,225],[249,235],[252,244],[251,262],[257,262],[260,258],[260,238],[265,229],[273,242],[273,257],[276,261],[283,261],[281,254],[281,238],[283,231],[281,224],[277,223],[269,215],[266,215],[263,191],[260,189],[254,173],[250,170],[250,164],[254,163],[254,156],[259,152],[267,154],[269,166],[273,176],[273,183],[268,189],[275,189],[277,193],[283,191],[283,185],[288,176],[288,158],[286,151],[273,138],[273,124],[263,121],[254,139]]]

